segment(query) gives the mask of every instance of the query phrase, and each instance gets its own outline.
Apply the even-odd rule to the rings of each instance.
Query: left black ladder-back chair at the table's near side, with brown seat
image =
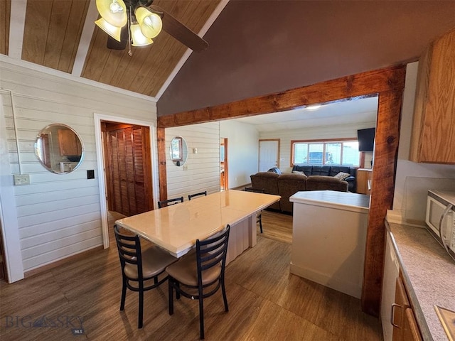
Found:
[[[177,261],[159,247],[150,247],[141,251],[139,236],[127,236],[119,232],[119,227],[114,225],[115,240],[119,251],[120,265],[122,266],[122,300],[120,310],[124,310],[127,288],[139,292],[139,315],[137,328],[142,328],[142,315],[144,311],[144,291],[157,288],[168,279],[165,273],[166,266]],[[160,276],[163,274],[164,276]],[[159,278],[159,276],[161,278]],[[144,283],[152,281],[153,283]],[[133,282],[135,285],[132,285]]]

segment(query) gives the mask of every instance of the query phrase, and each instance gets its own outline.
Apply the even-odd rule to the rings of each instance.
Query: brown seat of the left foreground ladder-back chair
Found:
[[[157,276],[166,269],[166,266],[177,260],[176,257],[171,256],[159,247],[150,247],[142,251],[142,276],[144,278]],[[124,273],[129,278],[137,278],[137,266],[125,264]]]

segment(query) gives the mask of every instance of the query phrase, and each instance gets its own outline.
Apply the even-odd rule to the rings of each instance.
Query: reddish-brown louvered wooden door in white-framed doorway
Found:
[[[105,124],[108,210],[137,215],[153,210],[149,128]]]

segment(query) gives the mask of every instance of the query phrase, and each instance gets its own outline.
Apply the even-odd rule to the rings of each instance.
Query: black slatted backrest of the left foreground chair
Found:
[[[122,265],[122,273],[127,276],[124,271],[125,264],[132,264],[137,266],[138,278],[129,278],[138,280],[142,278],[142,254],[141,242],[139,236],[127,236],[119,232],[117,224],[114,225],[115,241],[117,242],[117,249],[119,251],[120,264]]]

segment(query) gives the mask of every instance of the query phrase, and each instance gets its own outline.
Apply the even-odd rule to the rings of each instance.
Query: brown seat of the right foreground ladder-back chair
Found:
[[[171,264],[166,268],[166,272],[180,283],[186,286],[198,286],[198,266],[196,264],[196,254],[184,256],[181,260]],[[203,272],[203,286],[215,281],[221,273],[221,264]]]

